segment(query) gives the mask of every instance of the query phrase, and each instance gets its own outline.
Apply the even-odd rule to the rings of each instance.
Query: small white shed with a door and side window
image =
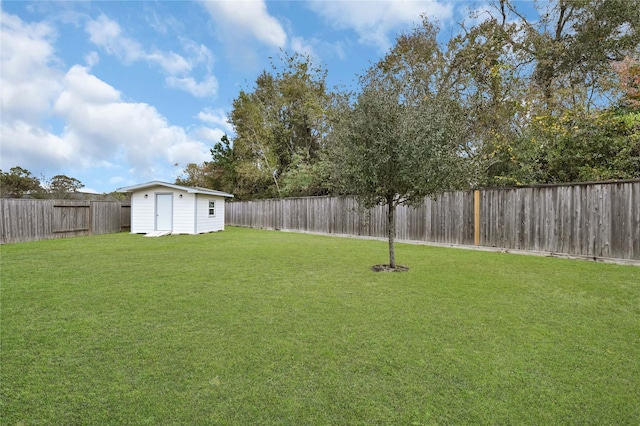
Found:
[[[202,234],[224,230],[224,203],[233,195],[153,181],[119,188],[131,193],[132,234]]]

